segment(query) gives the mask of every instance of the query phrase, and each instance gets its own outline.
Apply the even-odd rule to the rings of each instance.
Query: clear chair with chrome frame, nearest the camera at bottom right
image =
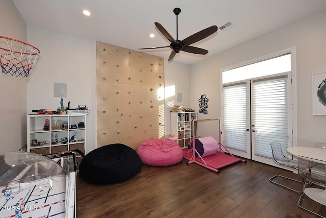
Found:
[[[301,205],[302,198],[305,195],[305,187],[306,184],[316,184],[321,187],[326,187],[326,166],[325,164],[314,162],[312,159],[307,159],[302,156],[298,156],[298,175],[302,176],[304,178],[304,184],[301,192],[301,196],[297,202],[297,205],[301,207],[304,210],[307,210],[315,215],[318,215],[320,217],[326,218],[325,216],[322,216],[314,211],[309,210],[307,207],[304,207]],[[311,166],[311,163],[313,162],[313,167]],[[323,193],[320,193],[321,195],[325,196],[325,191],[323,189],[320,189],[320,191],[323,191]],[[309,196],[308,196],[309,197]],[[318,200],[316,200],[318,202]],[[320,203],[320,202],[318,202]]]

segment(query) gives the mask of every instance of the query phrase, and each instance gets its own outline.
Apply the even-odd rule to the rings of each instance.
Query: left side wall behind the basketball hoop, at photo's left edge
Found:
[[[12,0],[0,2],[0,25],[0,36],[27,42],[26,23]],[[0,154],[26,144],[26,81],[0,74]]]

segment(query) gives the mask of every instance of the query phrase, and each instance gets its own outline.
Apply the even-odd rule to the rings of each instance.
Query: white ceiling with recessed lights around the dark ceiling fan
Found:
[[[284,27],[326,9],[325,0],[13,0],[27,25],[105,42],[126,49],[169,58],[170,42],[158,31],[159,22],[176,39],[207,27],[232,26],[192,44],[208,50],[207,55],[180,52],[172,62],[194,64],[238,44]],[[84,9],[90,17],[82,14]],[[150,38],[149,34],[155,34]],[[35,45],[37,46],[37,45]]]

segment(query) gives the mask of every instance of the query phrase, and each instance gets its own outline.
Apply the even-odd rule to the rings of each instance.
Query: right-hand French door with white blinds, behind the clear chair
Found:
[[[288,91],[291,79],[288,78],[289,76],[252,81],[253,160],[265,162],[265,158],[273,158],[269,144],[271,141],[280,141],[283,148],[292,144],[291,92]]]

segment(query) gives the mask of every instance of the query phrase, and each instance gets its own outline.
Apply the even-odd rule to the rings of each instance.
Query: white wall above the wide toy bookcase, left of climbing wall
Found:
[[[41,51],[27,84],[27,112],[57,110],[53,83],[67,84],[64,106],[87,105],[87,153],[96,148],[96,41],[28,26],[28,42]]]

